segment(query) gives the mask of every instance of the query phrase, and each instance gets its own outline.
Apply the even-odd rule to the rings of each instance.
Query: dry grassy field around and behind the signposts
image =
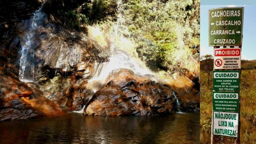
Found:
[[[212,75],[212,71],[211,71]],[[208,144],[211,140],[212,113],[212,79],[207,84],[208,74],[200,71],[200,143]],[[256,69],[242,70],[241,73],[241,143],[256,144]],[[227,137],[229,143],[234,138]],[[218,143],[223,143],[224,137],[218,137]]]

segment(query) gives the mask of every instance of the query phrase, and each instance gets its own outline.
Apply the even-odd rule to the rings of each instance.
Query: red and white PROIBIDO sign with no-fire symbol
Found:
[[[214,69],[241,69],[241,48],[214,48]]]

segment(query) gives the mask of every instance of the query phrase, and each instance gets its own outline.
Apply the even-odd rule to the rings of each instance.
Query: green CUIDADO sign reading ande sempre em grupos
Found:
[[[213,71],[213,90],[239,91],[240,71]]]

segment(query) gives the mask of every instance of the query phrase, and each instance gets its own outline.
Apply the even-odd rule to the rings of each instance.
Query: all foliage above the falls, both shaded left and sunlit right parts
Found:
[[[55,22],[77,30],[113,25],[121,15],[139,57],[155,71],[173,72],[198,71],[199,7],[199,0],[51,0],[45,6]]]

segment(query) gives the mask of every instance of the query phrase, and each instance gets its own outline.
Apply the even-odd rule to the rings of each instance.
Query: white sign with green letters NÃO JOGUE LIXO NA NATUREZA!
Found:
[[[221,136],[238,136],[238,113],[213,112],[213,134]]]

